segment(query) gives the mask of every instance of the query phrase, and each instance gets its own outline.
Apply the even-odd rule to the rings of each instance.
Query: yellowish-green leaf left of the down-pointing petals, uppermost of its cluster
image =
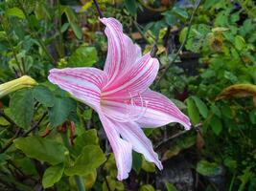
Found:
[[[97,131],[95,129],[88,130],[81,134],[81,136],[75,138],[72,152],[79,155],[82,148],[87,145],[99,145],[99,138],[97,137]]]

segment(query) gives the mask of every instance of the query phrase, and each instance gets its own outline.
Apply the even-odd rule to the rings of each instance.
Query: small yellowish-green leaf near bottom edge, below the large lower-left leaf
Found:
[[[58,180],[61,179],[64,171],[64,164],[60,163],[47,168],[43,174],[42,185],[44,188],[52,187]]]

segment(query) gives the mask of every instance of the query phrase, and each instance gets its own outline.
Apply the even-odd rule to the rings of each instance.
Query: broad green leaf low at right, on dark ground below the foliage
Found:
[[[216,176],[221,174],[221,167],[215,162],[200,160],[197,164],[197,172],[203,176]]]

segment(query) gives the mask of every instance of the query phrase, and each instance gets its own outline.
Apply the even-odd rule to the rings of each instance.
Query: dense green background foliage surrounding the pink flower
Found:
[[[164,164],[133,153],[116,180],[98,116],[47,81],[51,68],[103,68],[104,26],[90,0],[0,2],[0,190],[256,190],[256,5],[253,0],[99,0],[105,17],[161,67],[152,89],[192,120],[145,133]]]

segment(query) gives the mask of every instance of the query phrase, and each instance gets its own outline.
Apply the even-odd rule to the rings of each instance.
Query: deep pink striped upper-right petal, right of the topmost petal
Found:
[[[114,82],[104,87],[103,98],[143,93],[153,82],[158,69],[158,60],[152,58],[150,53],[145,54],[125,74],[120,74]]]

